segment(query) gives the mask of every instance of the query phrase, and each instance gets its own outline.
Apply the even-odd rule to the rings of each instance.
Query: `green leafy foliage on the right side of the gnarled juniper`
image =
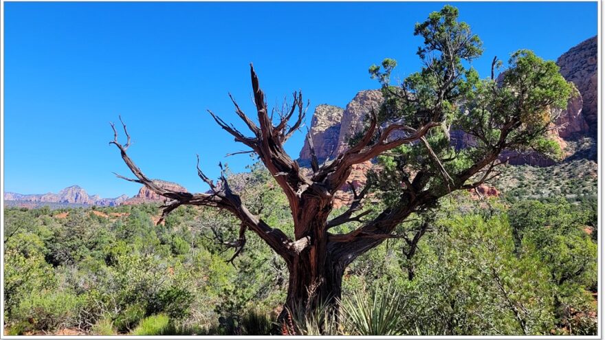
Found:
[[[434,155],[418,142],[378,157],[384,171],[376,175],[375,183],[386,201],[397,201],[397,185],[412,174],[422,174],[425,179],[419,184],[434,192],[463,185],[470,169],[500,150],[540,152],[555,159],[562,155],[548,132],[558,117],[555,109],[564,109],[575,91],[573,84],[564,80],[553,61],[526,49],[511,55],[500,77],[480,78],[470,62],[483,53],[481,40],[457,17],[458,10],[445,5],[416,25],[414,34],[424,38],[417,52],[423,67],[401,86],[389,82],[395,60],[387,58],[382,67],[369,69],[382,84],[385,102],[379,122],[408,126],[441,122],[426,136]],[[494,59],[494,68],[500,65]],[[353,136],[351,144],[360,135]]]

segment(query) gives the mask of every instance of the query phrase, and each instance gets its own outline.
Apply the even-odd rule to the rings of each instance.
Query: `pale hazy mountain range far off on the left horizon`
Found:
[[[98,195],[89,196],[86,190],[80,188],[78,185],[72,185],[67,187],[58,194],[49,192],[47,194],[32,194],[24,195],[17,194],[16,192],[5,192],[5,201],[23,201],[30,203],[69,203],[69,204],[81,204],[81,205],[101,205],[101,206],[114,206],[120,205],[128,199],[128,196],[122,195],[115,199],[102,199]]]

